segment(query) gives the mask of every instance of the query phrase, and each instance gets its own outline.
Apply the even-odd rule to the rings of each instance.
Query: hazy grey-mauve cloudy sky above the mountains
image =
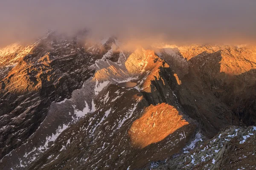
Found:
[[[253,41],[256,0],[0,0],[0,24],[0,46],[84,27],[123,40]]]

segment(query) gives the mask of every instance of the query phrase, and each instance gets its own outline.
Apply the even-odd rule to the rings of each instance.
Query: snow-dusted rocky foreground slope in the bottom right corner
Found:
[[[189,153],[168,159],[155,170],[255,169],[256,127],[227,127]]]

